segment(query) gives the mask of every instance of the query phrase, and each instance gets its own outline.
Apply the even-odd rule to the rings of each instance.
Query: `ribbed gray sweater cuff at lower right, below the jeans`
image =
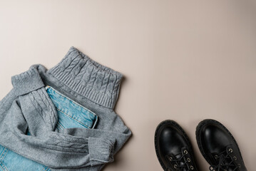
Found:
[[[91,166],[113,162],[114,138],[89,138],[88,149]]]

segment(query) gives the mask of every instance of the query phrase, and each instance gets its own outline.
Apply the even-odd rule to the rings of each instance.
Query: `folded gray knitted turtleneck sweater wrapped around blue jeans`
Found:
[[[0,144],[51,170],[101,170],[131,135],[113,110],[121,78],[74,47],[49,70],[31,66],[11,78],[13,89],[0,101]],[[96,113],[96,127],[55,129],[45,86]]]

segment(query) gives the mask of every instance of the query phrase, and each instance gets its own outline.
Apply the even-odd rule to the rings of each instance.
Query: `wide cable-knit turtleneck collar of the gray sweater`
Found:
[[[121,73],[92,61],[74,47],[49,72],[77,93],[107,108],[114,107],[123,77]]]

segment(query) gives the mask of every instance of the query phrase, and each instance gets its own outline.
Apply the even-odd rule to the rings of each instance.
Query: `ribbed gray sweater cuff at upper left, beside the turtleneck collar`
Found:
[[[34,66],[31,66],[29,71],[16,76],[12,76],[11,83],[14,86],[16,95],[18,96],[24,95],[44,86],[43,81],[41,80],[41,76],[39,75],[39,72],[36,71]]]

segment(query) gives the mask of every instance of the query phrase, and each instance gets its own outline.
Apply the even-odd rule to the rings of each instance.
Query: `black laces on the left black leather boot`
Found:
[[[190,170],[194,170],[193,165],[188,165],[189,162],[191,162],[191,159],[189,157],[186,157],[186,155],[188,155],[188,151],[184,150],[183,153],[180,153],[178,155],[175,156],[180,156],[180,157],[176,157],[176,159],[174,159],[173,157],[168,157],[168,160],[170,162],[174,162],[175,164],[173,165],[173,167],[175,169],[186,169],[186,171],[190,171]]]

